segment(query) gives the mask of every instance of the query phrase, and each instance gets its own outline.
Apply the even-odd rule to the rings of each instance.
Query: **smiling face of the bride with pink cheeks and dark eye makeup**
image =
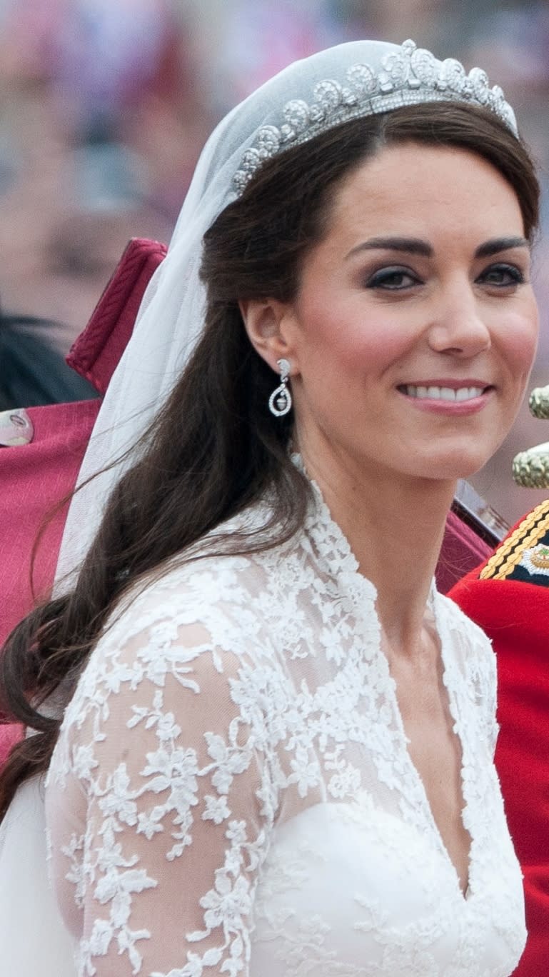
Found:
[[[529,266],[518,199],[484,159],[409,143],[363,163],[278,309],[306,457],[377,477],[477,471],[528,381]]]

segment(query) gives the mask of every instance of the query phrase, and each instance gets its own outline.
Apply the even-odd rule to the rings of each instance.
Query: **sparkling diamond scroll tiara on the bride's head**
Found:
[[[353,64],[346,71],[347,84],[326,78],[313,89],[313,101],[292,99],[282,108],[280,126],[262,126],[240,161],[233,177],[239,196],[267,159],[283,149],[307,143],[341,122],[376,115],[421,102],[464,102],[483,106],[518,136],[515,113],[499,85],[489,87],[486,71],[446,58],[440,62],[430,51],[407,40],[381,60],[381,70],[369,64]]]

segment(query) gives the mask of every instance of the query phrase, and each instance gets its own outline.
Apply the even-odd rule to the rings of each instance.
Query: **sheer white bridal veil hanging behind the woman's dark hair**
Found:
[[[56,574],[58,593],[72,583],[99,527],[106,499],[132,463],[131,450],[124,460],[122,456],[151,424],[190,359],[204,318],[205,290],[199,279],[201,239],[236,197],[234,175],[258,130],[283,125],[284,106],[292,100],[310,103],[318,82],[335,79],[343,84],[347,70],[357,64],[368,64],[380,72],[382,60],[399,52],[397,45],[357,41],[292,64],[236,106],[210,137],[196,166],[167,257],[148,286],[132,339],[112,377],[86,452],[77,482],[81,488],[71,502],[63,535]],[[435,98],[441,99],[443,94],[433,94]],[[425,91],[416,99],[426,100]],[[392,105],[388,102],[387,107]],[[65,956],[70,940],[63,933],[49,887],[44,839],[42,788],[33,782],[21,788],[0,828],[3,965],[5,948],[10,947],[13,953],[10,950],[6,972],[18,977],[72,977]]]

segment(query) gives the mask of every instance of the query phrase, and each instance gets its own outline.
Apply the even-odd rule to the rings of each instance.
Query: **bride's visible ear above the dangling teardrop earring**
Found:
[[[296,372],[293,314],[286,302],[277,299],[246,299],[239,303],[248,338],[260,357],[277,372],[276,361],[288,360]]]

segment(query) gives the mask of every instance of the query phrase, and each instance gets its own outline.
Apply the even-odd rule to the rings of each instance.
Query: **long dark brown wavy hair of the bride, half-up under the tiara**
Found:
[[[302,524],[308,485],[287,457],[291,419],[274,420],[267,409],[274,374],[247,339],[238,301],[291,299],[339,182],[379,149],[405,142],[484,157],[516,192],[531,239],[538,185],[528,151],[495,116],[475,106],[427,103],[355,119],[263,166],[205,234],[202,339],[142,439],[139,460],[112,493],[73,591],[36,608],[6,642],[3,705],[37,735],[13,748],[0,776],[0,817],[17,786],[48,767],[60,722],[41,714],[40,703],[62,683],[70,695],[129,586],[169,558],[185,557],[191,544],[268,488],[274,500],[270,541],[265,533],[232,535],[223,543],[226,551],[274,545]],[[208,552],[219,552],[219,536],[216,543]]]

